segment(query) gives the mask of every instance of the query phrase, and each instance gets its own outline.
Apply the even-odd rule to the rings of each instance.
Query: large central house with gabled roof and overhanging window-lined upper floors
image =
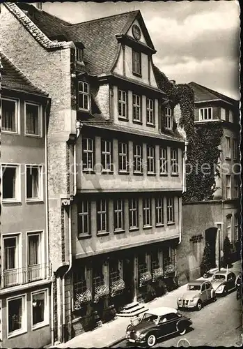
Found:
[[[4,50],[52,98],[52,342],[65,341],[175,277],[185,140],[139,11],[70,24],[4,3],[1,15]],[[19,40],[7,38],[10,26]]]

